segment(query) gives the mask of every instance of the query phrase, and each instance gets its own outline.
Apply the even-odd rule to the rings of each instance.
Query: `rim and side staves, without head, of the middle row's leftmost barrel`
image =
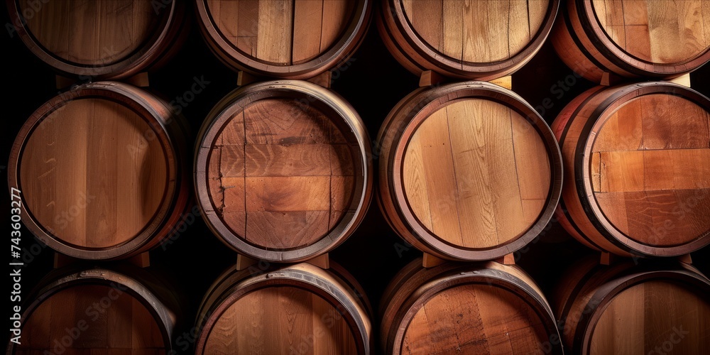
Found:
[[[184,118],[175,116],[170,104],[163,99],[155,97],[153,94],[120,82],[94,82],[72,87],[48,102],[45,102],[28,118],[20,129],[10,151],[8,184],[9,187],[20,185],[20,160],[24,144],[30,138],[32,131],[42,124],[42,120],[51,114],[54,109],[61,107],[65,102],[82,97],[104,97],[114,99],[122,104],[131,104],[133,108],[143,113],[146,123],[151,126],[158,138],[165,144],[165,148],[170,148],[166,160],[168,164],[169,176],[167,195],[169,202],[163,202],[159,213],[146,226],[141,234],[125,242],[116,248],[94,250],[82,249],[59,241],[49,231],[31,218],[25,208],[21,209],[21,216],[25,226],[44,244],[50,246],[55,251],[81,259],[91,260],[116,260],[130,258],[140,253],[150,251],[163,243],[170,237],[176,226],[178,226],[183,213],[190,202],[189,172],[185,157],[187,156],[187,126]],[[122,101],[121,101],[122,100]],[[148,121],[150,120],[150,121]],[[171,154],[170,154],[171,153]],[[152,230],[151,232],[148,232]]]

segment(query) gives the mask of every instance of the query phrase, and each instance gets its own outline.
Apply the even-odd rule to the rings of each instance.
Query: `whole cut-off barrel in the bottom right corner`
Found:
[[[710,280],[677,261],[573,266],[552,300],[567,354],[710,352]]]

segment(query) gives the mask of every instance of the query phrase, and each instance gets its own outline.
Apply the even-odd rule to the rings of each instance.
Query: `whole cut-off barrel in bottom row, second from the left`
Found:
[[[371,353],[370,306],[344,269],[252,269],[232,268],[209,289],[195,354]]]

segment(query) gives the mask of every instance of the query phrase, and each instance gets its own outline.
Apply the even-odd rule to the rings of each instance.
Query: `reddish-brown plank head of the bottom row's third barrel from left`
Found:
[[[405,331],[402,354],[530,354],[547,342],[535,310],[493,285],[437,293]]]

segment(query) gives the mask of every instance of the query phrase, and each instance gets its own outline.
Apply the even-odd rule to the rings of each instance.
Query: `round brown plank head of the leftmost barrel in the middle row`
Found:
[[[167,187],[167,160],[155,131],[135,111],[107,99],[75,99],[29,136],[21,190],[28,212],[50,234],[107,248],[152,222]]]

